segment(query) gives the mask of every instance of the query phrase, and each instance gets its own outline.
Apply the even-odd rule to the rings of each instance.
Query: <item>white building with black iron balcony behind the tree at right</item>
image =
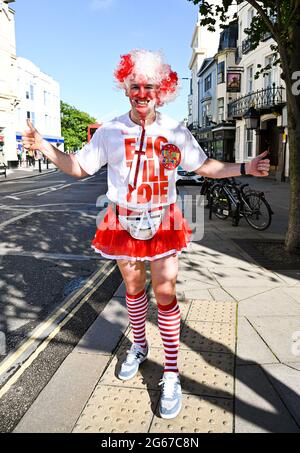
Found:
[[[252,51],[245,28],[251,24],[256,10],[243,2],[239,5],[238,64],[243,67],[240,98],[229,106],[229,116],[236,120],[236,162],[247,162],[269,148],[271,170],[284,171],[288,176],[288,148],[285,146],[287,132],[285,84],[280,77],[279,66],[272,66],[266,77],[255,79],[257,65],[263,67],[272,63],[275,44],[270,34]],[[246,128],[244,114],[249,107],[255,107],[259,114],[256,131]],[[283,160],[285,162],[283,162]]]

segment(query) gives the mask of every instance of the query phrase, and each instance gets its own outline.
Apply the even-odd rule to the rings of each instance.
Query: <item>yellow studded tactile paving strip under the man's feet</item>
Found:
[[[158,384],[163,373],[164,351],[152,301],[146,327],[149,359],[130,381],[122,382],[117,378],[133,339],[129,330],[74,432],[232,432],[235,303],[187,300],[181,301],[181,305],[185,315],[182,316],[178,365],[183,406],[176,419],[162,420],[158,415]]]

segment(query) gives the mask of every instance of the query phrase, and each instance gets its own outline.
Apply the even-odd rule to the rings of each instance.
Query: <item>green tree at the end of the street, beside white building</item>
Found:
[[[60,103],[61,128],[68,152],[76,151],[87,141],[88,125],[96,123],[88,113],[81,112],[66,102]]]

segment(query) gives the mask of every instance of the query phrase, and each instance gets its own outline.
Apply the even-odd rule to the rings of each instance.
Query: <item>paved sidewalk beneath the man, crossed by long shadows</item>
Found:
[[[287,195],[288,186],[258,184],[268,199]],[[283,237],[287,211],[278,198],[269,232],[206,219],[204,239],[180,258],[176,419],[158,415],[163,348],[151,287],[150,358],[133,380],[116,377],[132,341],[122,284],[15,432],[300,432],[300,270],[266,270],[232,240]]]

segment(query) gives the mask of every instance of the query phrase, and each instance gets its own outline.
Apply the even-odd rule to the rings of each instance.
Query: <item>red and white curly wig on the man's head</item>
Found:
[[[173,101],[179,92],[177,73],[164,62],[161,52],[132,50],[121,56],[115,70],[118,87],[128,89],[133,79],[158,86],[158,106]]]

